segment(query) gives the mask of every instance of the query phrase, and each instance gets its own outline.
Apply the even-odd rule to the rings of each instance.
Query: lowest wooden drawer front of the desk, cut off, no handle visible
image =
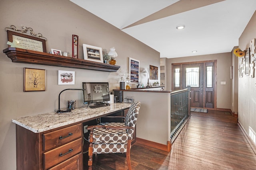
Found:
[[[77,154],[64,162],[50,168],[49,170],[81,170],[82,169],[82,153]]]

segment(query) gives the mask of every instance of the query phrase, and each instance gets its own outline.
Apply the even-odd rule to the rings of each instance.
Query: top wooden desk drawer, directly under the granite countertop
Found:
[[[73,125],[43,135],[43,149],[48,150],[58,145],[73,141],[82,136],[82,125]]]

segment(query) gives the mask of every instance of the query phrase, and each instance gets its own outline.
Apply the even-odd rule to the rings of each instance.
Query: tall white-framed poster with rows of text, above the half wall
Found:
[[[137,84],[140,75],[140,61],[129,57],[130,84]]]

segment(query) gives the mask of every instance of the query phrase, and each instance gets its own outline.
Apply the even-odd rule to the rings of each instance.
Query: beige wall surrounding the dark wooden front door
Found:
[[[217,60],[217,108],[230,109],[231,108],[231,80],[230,80],[230,53],[219,53],[219,54],[211,54],[211,55],[200,55],[193,57],[181,57],[181,58],[172,58],[166,60],[167,66],[167,86],[166,90],[171,90],[171,82],[172,82],[172,63],[185,63],[185,62],[193,62],[193,61],[209,61],[209,60]],[[226,85],[220,85],[220,82],[225,81]]]

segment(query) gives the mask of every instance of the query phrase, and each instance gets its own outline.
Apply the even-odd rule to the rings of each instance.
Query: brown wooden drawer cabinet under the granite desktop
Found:
[[[16,125],[17,170],[81,170],[82,124],[33,133]]]

